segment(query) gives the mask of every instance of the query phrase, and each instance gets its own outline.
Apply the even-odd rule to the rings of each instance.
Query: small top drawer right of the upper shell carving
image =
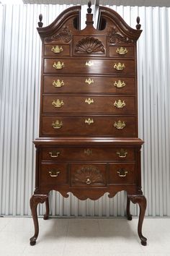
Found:
[[[118,58],[134,58],[135,51],[133,46],[109,46],[109,56]]]

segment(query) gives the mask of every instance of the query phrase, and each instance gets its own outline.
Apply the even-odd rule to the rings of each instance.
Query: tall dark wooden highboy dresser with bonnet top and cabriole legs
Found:
[[[80,30],[81,7],[62,12],[50,25],[37,28],[42,40],[40,95],[40,136],[36,147],[35,192],[30,208],[35,234],[39,228],[37,205],[45,202],[49,215],[48,193],[63,197],[68,192],[80,200],[97,200],[105,192],[114,197],[127,192],[138,203],[138,236],[142,234],[146,197],[141,190],[138,138],[138,93],[136,29],[129,27],[117,12],[99,7],[97,29],[89,2],[86,28]],[[114,227],[113,227],[114,229]]]

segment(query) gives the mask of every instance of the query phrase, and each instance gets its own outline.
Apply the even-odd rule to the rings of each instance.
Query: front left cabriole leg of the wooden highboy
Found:
[[[32,197],[30,198],[30,208],[32,211],[32,218],[35,226],[35,234],[30,238],[30,245],[36,244],[37,236],[39,233],[39,226],[37,221],[37,205],[39,203],[45,202],[47,198],[48,198],[48,195],[32,195]]]

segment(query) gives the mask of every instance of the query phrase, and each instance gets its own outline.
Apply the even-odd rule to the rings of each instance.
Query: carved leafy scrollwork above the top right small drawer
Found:
[[[109,43],[133,43],[133,39],[122,35],[116,27],[113,27],[112,31],[109,33]]]

